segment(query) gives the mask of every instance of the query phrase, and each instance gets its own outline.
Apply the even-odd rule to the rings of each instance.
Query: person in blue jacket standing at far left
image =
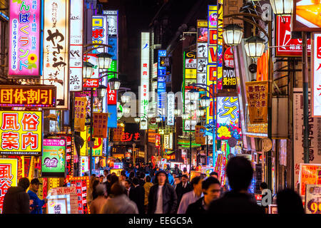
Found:
[[[34,178],[30,182],[29,191],[27,192],[29,198],[33,201],[30,207],[32,208],[31,214],[42,214],[41,207],[48,202],[48,199],[39,199],[37,196],[37,192],[39,190],[39,186],[42,185],[38,178]]]

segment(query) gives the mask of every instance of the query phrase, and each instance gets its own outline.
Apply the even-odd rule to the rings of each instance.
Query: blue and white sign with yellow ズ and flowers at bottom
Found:
[[[241,140],[238,97],[218,97],[217,139]]]

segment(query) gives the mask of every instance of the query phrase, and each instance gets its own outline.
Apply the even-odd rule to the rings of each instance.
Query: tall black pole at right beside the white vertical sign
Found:
[[[302,31],[302,79],[303,79],[303,149],[304,161],[309,163],[309,92],[307,79],[307,33]]]

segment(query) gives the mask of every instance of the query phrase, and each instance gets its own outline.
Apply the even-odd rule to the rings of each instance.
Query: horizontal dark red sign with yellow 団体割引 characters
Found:
[[[54,86],[0,86],[0,107],[56,107]]]

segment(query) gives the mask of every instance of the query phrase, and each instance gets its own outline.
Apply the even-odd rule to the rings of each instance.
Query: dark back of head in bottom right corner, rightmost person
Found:
[[[285,189],[277,192],[277,214],[305,214],[302,199],[297,192]]]

